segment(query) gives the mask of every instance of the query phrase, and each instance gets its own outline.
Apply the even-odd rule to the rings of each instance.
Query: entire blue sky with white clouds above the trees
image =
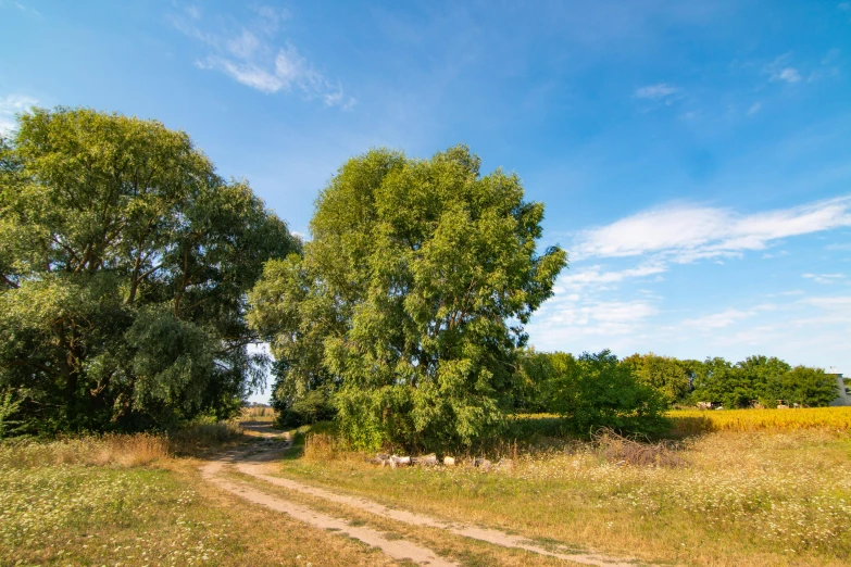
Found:
[[[305,238],[347,159],[465,143],[568,251],[537,349],[851,375],[848,1],[0,0],[32,105],[183,129]]]

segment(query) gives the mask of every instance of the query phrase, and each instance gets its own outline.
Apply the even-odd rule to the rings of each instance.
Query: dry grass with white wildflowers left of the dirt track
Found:
[[[240,440],[205,429],[0,443],[0,565],[395,565],[202,482],[175,454]]]

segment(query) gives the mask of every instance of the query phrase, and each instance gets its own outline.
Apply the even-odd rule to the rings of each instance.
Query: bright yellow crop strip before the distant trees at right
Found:
[[[851,431],[851,407],[798,410],[675,410],[667,413],[678,433],[711,431]]]

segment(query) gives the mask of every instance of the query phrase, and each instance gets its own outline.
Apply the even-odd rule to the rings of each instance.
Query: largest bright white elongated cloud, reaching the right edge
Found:
[[[656,254],[692,262],[764,250],[773,241],[851,226],[851,197],[742,215],[727,209],[672,204],[583,231],[574,257]]]

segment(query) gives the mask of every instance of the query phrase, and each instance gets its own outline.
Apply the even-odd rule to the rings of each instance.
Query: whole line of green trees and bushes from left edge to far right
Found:
[[[283,420],[334,418],[360,448],[470,446],[517,412],[653,432],[677,403],[826,399],[775,358],[528,349],[567,265],[542,218],[464,146],[375,149],[304,242],[183,131],[33,109],[0,138],[0,436],[227,418],[268,373]]]

